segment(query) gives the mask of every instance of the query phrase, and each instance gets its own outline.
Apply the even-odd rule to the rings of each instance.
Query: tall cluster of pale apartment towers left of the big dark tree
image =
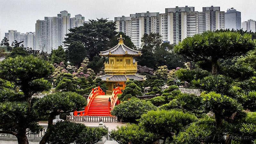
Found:
[[[84,17],[81,14],[70,18],[68,11],[61,11],[57,17],[44,17],[44,20],[37,20],[35,50],[51,53],[52,50],[63,45],[70,28],[83,24]]]

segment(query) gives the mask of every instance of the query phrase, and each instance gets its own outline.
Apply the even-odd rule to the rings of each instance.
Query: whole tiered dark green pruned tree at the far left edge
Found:
[[[37,124],[40,113],[32,107],[37,99],[32,95],[51,88],[44,78],[52,73],[50,63],[33,56],[8,58],[0,62],[0,77],[19,85],[22,93],[13,93],[4,88],[0,91],[0,129],[3,133],[17,137],[19,143],[26,143],[27,131],[39,133],[42,128]]]

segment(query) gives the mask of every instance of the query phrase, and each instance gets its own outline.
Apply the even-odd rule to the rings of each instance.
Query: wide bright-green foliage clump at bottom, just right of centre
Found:
[[[195,122],[196,116],[177,110],[149,111],[140,118],[140,124],[146,131],[155,133],[165,139],[179,134],[188,124]]]

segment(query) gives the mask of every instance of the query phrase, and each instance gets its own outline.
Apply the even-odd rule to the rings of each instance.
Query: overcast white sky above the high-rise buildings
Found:
[[[220,6],[221,11],[234,7],[241,12],[242,21],[256,20],[256,0],[0,0],[1,39],[8,30],[34,32],[36,20],[57,16],[67,10],[74,17],[82,14],[85,20],[129,16],[136,12],[160,12],[165,8],[185,5],[202,11],[202,7]]]

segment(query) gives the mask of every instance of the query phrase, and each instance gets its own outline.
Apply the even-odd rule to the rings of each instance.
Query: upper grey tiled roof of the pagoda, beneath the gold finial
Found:
[[[141,53],[140,53],[140,51],[135,51],[135,50],[129,48],[128,46],[124,45],[124,44],[117,44],[116,46],[114,46],[113,48],[111,48],[111,49],[109,49],[107,51],[100,52],[100,55],[101,56],[109,56],[109,55],[134,55],[134,56],[140,56]]]

